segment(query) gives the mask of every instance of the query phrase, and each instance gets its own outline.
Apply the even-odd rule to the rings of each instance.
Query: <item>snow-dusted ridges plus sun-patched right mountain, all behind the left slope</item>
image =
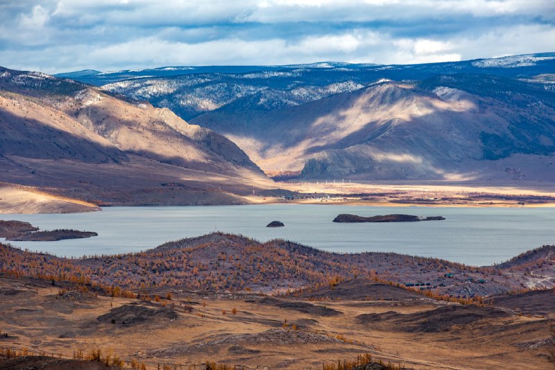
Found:
[[[275,178],[555,180],[555,53],[60,74],[169,108]]]

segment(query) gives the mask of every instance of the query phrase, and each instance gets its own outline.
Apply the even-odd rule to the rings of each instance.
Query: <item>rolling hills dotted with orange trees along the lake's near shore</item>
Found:
[[[470,267],[395,253],[330,253],[280,239],[260,243],[212,233],[141,253],[78,259],[0,244],[0,271],[122,289],[167,286],[255,292],[312,289],[362,276],[436,296],[470,298],[554,287],[553,250],[544,246],[538,249],[542,251],[538,258],[511,267]]]

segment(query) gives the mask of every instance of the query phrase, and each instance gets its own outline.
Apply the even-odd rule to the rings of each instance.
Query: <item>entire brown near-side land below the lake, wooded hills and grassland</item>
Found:
[[[469,267],[223,233],[78,259],[0,244],[0,368],[547,369],[554,250]]]

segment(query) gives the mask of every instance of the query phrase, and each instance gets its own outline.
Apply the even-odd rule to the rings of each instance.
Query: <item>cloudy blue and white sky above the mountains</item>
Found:
[[[555,51],[555,0],[0,0],[0,65],[49,74]]]

